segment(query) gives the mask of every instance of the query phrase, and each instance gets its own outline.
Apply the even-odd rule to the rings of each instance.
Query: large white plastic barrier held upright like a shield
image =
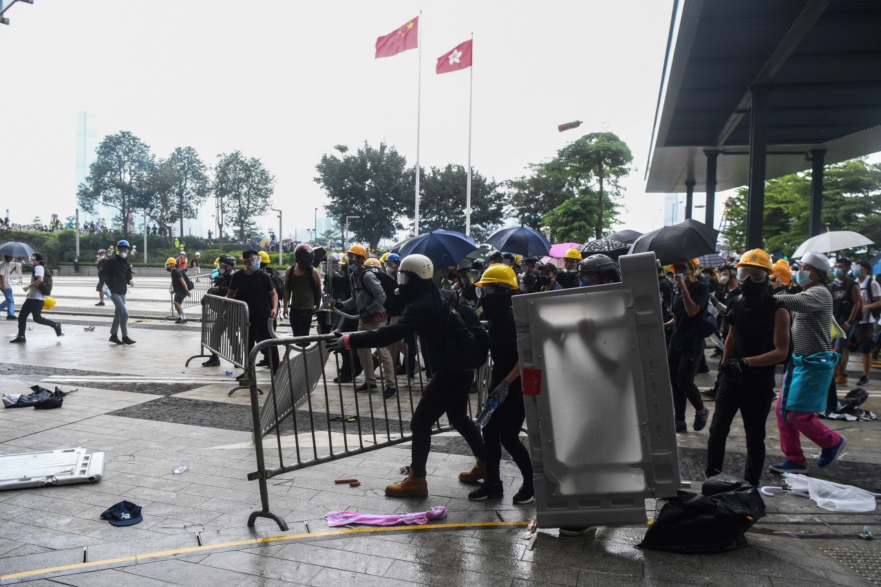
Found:
[[[680,487],[655,255],[623,281],[515,296],[540,527],[637,524]]]

